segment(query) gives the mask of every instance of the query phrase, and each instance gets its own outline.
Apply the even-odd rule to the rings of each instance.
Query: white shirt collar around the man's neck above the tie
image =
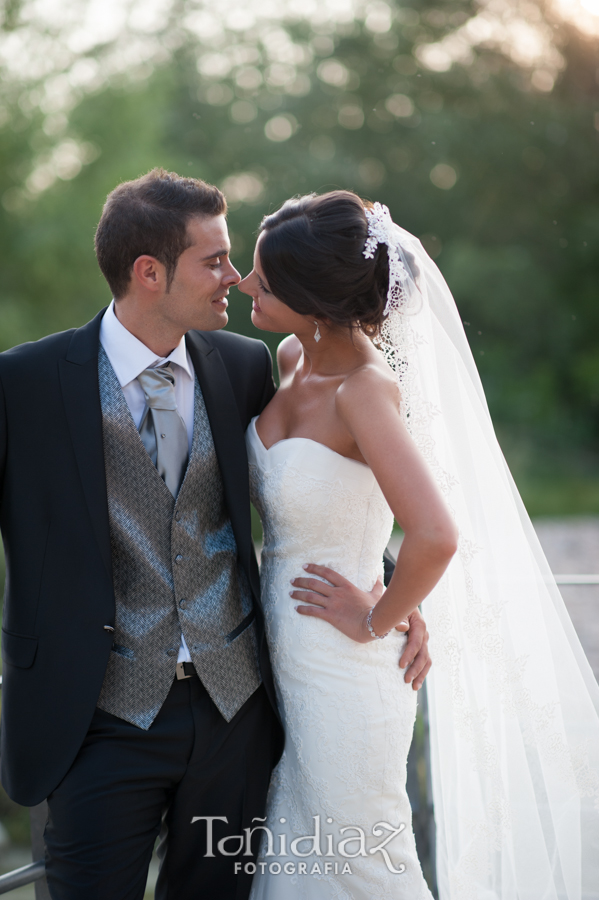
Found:
[[[146,347],[119,321],[114,309],[114,300],[102,317],[100,343],[106,351],[121,387],[134,381],[144,369],[163,366],[167,362],[180,366],[193,379],[191,363],[185,346],[185,336],[167,357],[156,356],[153,350]]]

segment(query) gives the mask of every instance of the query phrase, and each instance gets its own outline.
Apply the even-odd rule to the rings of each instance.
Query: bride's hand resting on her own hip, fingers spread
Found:
[[[289,593],[294,600],[306,606],[296,606],[302,616],[314,616],[330,622],[335,628],[360,644],[368,644],[373,639],[366,625],[366,617],[376,606],[384,593],[381,579],[371,591],[359,588],[327,566],[307,565],[306,572],[318,578],[294,578],[293,590]],[[326,579],[321,581],[321,579]]]

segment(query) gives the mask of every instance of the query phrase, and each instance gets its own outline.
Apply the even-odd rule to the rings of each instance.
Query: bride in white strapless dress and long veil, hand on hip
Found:
[[[395,664],[425,598],[441,897],[599,896],[599,690],[440,273],[386,207],[335,191],[265,218],[240,288],[257,327],[291,333],[247,433],[286,730],[252,900],[431,898]]]

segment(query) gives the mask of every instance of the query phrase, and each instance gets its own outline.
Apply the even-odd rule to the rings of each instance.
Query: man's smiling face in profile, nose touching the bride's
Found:
[[[177,262],[162,297],[164,319],[182,332],[215,331],[227,324],[227,294],[241,280],[229,259],[231,242],[224,216],[194,217],[187,223],[191,245]]]

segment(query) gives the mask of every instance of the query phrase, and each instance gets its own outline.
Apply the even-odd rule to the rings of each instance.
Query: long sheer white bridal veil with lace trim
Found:
[[[599,898],[599,687],[497,442],[447,284],[367,210],[389,251],[381,348],[459,528],[423,603],[441,900]]]

